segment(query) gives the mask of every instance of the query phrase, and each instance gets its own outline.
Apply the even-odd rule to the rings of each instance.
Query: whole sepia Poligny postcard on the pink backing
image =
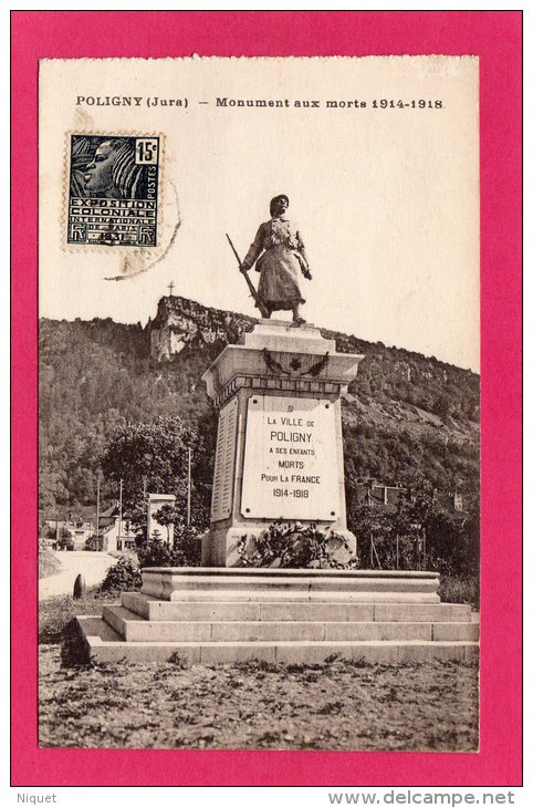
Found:
[[[478,84],[40,62],[40,747],[478,750]]]

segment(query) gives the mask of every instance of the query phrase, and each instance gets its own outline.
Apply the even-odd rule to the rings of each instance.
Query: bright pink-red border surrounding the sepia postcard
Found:
[[[12,785],[522,781],[522,14],[12,12]],[[481,131],[480,750],[40,749],[36,734],[38,60],[477,54]]]

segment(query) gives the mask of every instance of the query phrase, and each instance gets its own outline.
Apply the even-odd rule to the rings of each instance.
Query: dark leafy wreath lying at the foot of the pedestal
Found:
[[[237,552],[244,567],[355,569],[359,564],[347,539],[316,525],[275,521],[259,536],[241,536]],[[344,559],[344,560],[341,560]]]

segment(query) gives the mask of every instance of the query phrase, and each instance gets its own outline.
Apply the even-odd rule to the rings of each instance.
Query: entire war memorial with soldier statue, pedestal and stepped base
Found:
[[[364,356],[337,353],[303,319],[300,278],[312,276],[288,207],[284,195],[271,201],[271,219],[239,259],[261,320],[203,374],[219,421],[201,567],[143,569],[140,592],[104,607],[102,619],[79,618],[93,659],[477,659],[471,609],[440,602],[437,572],[357,568],[341,403]],[[272,319],[279,310],[292,311],[292,323]],[[305,568],[257,566],[273,529],[289,542],[320,535],[322,556]]]

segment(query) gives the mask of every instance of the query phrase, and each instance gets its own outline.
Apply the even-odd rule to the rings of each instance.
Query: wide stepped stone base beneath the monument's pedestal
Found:
[[[77,623],[101,662],[473,661],[478,622],[438,586],[433,572],[151,568],[140,592]]]

